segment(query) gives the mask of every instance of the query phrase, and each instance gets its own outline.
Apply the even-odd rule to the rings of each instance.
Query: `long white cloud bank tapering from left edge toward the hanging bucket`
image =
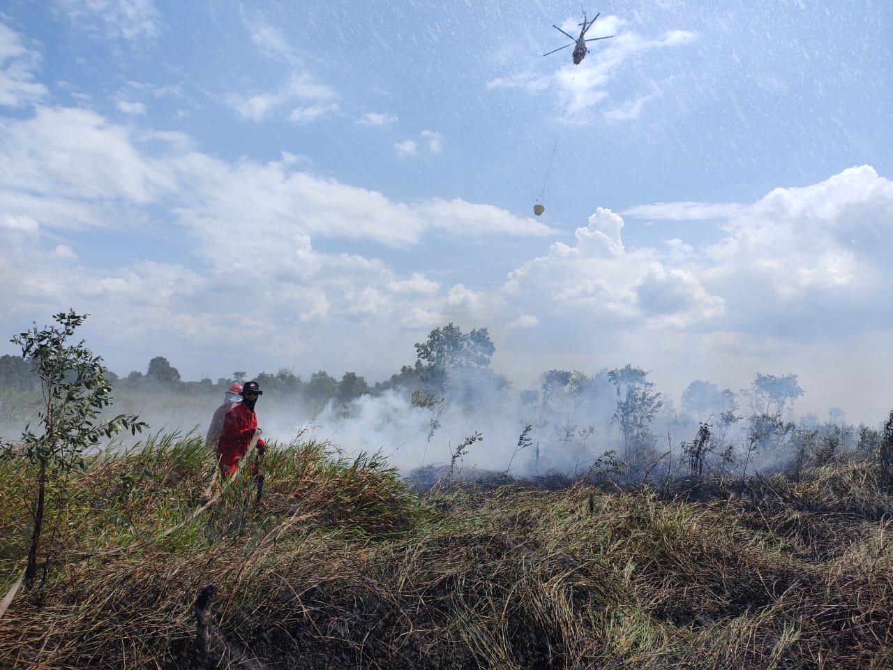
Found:
[[[148,157],[149,148],[161,152]],[[0,127],[0,205],[52,229],[138,227],[144,208],[170,207],[214,266],[246,252],[299,256],[301,236],[415,244],[425,230],[544,235],[550,229],[492,205],[455,199],[405,204],[299,170],[300,160],[227,163],[195,152],[180,133],[130,130],[82,109],[40,108]],[[4,167],[5,166],[5,167]],[[15,166],[13,170],[13,166]],[[240,239],[250,225],[258,235]],[[296,241],[298,240],[298,241]]]

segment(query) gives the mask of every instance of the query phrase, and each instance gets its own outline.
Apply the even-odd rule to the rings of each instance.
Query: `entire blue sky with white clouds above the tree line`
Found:
[[[376,381],[453,321],[521,388],[797,373],[886,415],[893,5],[372,7],[7,0],[0,332]],[[614,38],[542,57],[582,10]]]

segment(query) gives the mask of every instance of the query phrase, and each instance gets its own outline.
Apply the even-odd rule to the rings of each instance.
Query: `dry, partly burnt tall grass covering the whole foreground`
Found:
[[[71,473],[46,580],[0,617],[0,667],[893,666],[893,498],[854,455],[660,487],[411,488],[313,442],[265,458],[260,499],[209,487],[191,437]],[[0,470],[2,596],[32,473]]]

